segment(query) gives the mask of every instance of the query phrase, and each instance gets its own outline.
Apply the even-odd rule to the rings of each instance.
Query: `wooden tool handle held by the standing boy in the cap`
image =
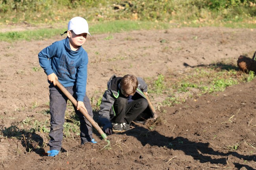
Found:
[[[62,84],[56,79],[56,86],[61,90],[67,98],[74,104],[74,106],[77,106],[77,101],[76,99],[67,91],[67,89],[62,86]],[[83,114],[83,116],[93,125],[93,127],[100,133],[103,139],[107,138],[107,135],[102,131],[100,126],[93,120],[93,118],[87,113],[87,110],[84,108],[80,107],[79,111]]]

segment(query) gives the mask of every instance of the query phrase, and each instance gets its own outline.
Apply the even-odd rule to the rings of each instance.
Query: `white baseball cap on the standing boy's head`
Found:
[[[76,16],[69,21],[68,31],[70,30],[72,30],[76,35],[87,33],[91,37],[87,21],[80,16]]]

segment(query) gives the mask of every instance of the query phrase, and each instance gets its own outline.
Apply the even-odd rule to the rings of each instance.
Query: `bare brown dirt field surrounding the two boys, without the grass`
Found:
[[[97,98],[113,74],[157,77],[185,67],[222,60],[236,63],[239,55],[256,50],[256,30],[215,27],[93,35],[83,46],[89,55],[87,95]],[[110,38],[109,38],[110,37]],[[41,49],[65,37],[49,40],[0,42],[0,127],[24,120],[48,121],[48,83],[39,69]],[[164,41],[162,41],[164,40]],[[154,130],[109,135],[111,149],[94,130],[97,144],[80,146],[79,137],[65,138],[63,152],[47,157],[48,133],[0,136],[0,170],[256,170],[256,80],[214,95],[192,97],[184,104],[163,108]],[[152,98],[156,106],[164,95]],[[196,100],[195,100],[196,99]],[[96,117],[97,115],[95,115]],[[40,150],[31,145],[45,144]],[[37,143],[36,143],[37,142]]]

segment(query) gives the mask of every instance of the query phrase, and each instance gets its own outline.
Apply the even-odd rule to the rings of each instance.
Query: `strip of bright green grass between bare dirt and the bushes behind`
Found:
[[[152,29],[170,29],[173,27],[201,27],[201,26],[225,26],[232,28],[256,28],[254,23],[255,18],[239,22],[224,22],[216,20],[215,22],[152,22],[139,20],[112,20],[102,22],[89,22],[89,31],[91,35],[102,33],[120,33],[134,30],[152,30]],[[184,24],[186,23],[186,24]],[[0,33],[0,41],[13,42],[17,40],[45,40],[60,36],[60,33],[66,31],[66,26],[63,28],[43,28],[29,31],[8,31]],[[65,37],[65,35],[63,35]],[[113,35],[109,35],[105,40],[113,39]],[[178,49],[179,50],[179,49]]]

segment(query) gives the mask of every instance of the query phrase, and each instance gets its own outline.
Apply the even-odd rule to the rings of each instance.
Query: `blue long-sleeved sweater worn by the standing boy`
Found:
[[[54,42],[38,54],[46,75],[55,73],[64,87],[76,86],[77,101],[83,101],[87,83],[87,52],[81,47],[72,51],[69,38]]]

